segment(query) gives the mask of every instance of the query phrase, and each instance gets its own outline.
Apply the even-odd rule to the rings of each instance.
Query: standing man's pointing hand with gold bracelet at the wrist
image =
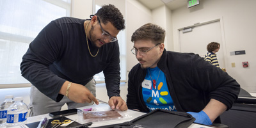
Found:
[[[95,102],[95,104],[99,104],[99,101],[94,97],[94,95],[81,84],[72,83],[68,92],[68,99],[77,102],[77,103],[85,103],[85,102]]]

